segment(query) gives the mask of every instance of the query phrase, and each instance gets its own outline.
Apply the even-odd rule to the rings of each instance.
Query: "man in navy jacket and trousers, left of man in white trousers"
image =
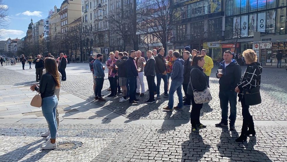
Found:
[[[127,77],[129,80],[129,103],[138,103],[139,99],[136,99],[136,77],[138,76],[138,70],[136,67],[136,51],[131,50],[129,58],[126,60]]]

